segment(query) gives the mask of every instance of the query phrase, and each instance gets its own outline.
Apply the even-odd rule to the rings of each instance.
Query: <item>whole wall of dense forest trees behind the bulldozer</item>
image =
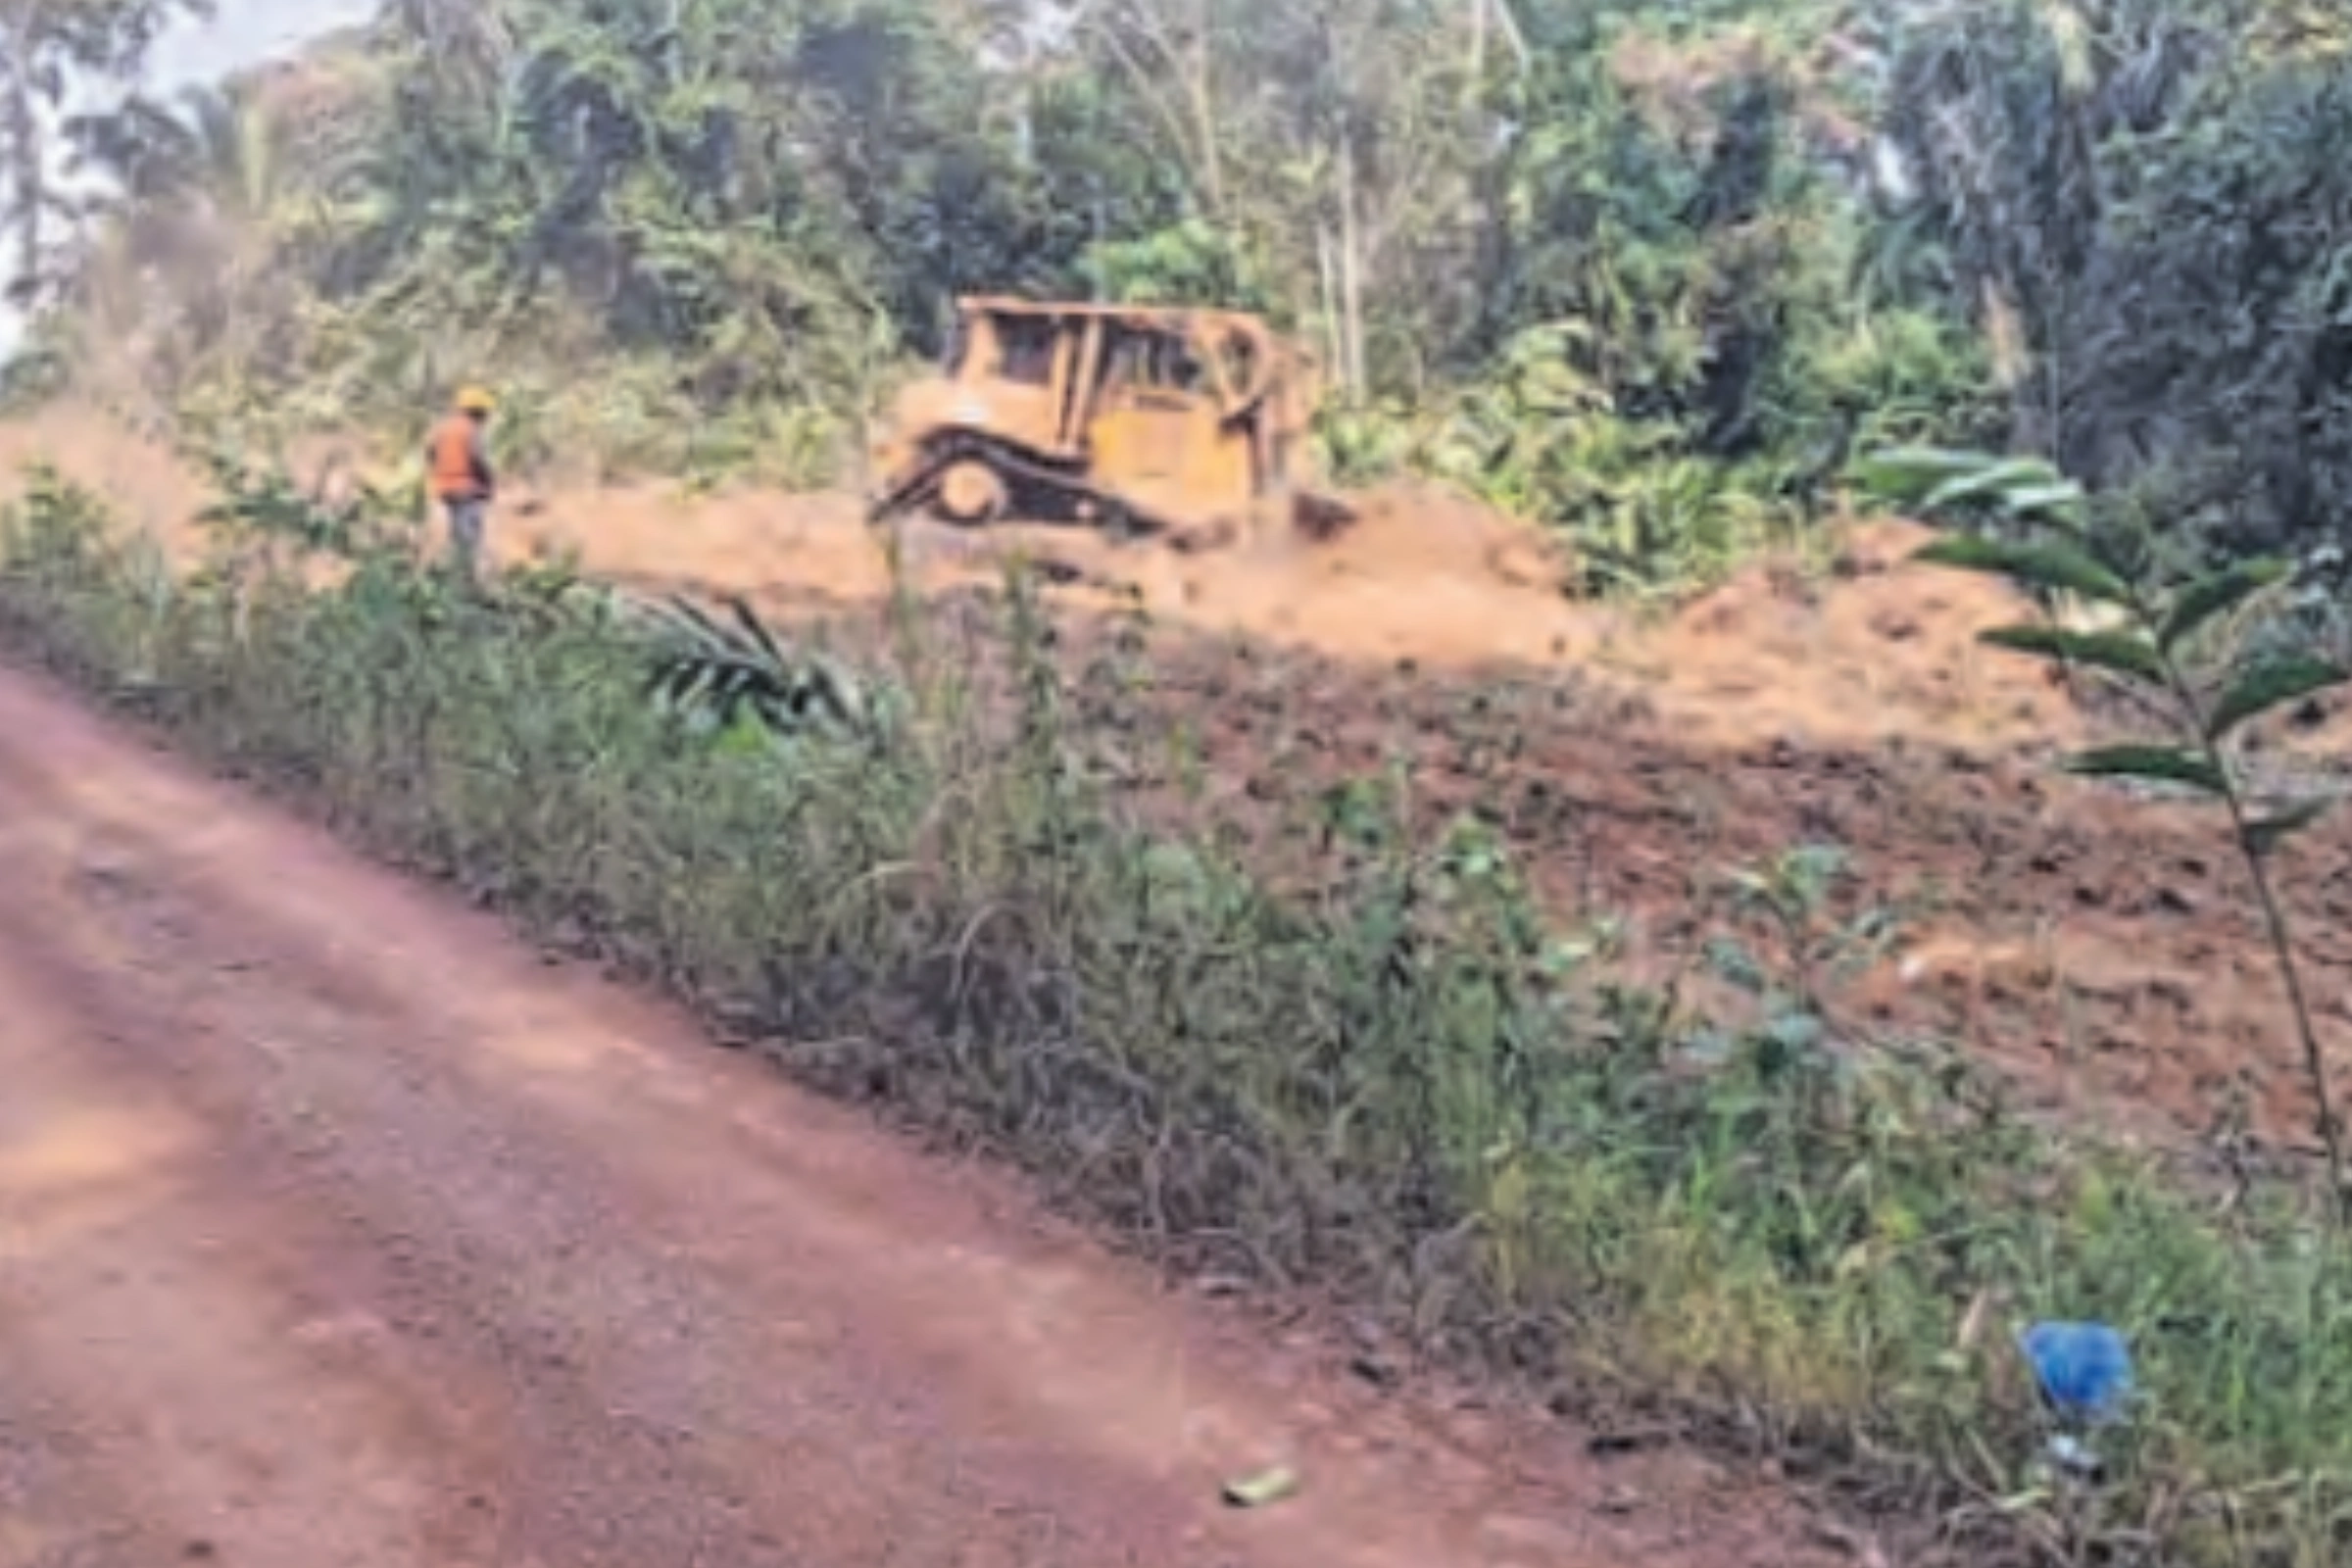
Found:
[[[24,0],[16,0],[24,2]],[[73,127],[78,371],[280,425],[826,477],[969,289],[1244,303],[1329,461],[1703,571],[1856,442],[2340,536],[2326,0],[390,0]]]

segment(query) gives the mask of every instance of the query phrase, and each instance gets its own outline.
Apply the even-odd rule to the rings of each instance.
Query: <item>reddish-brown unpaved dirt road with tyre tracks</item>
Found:
[[[0,889],[0,1568],[1813,1561],[1689,1455],[1160,1293],[16,677]]]

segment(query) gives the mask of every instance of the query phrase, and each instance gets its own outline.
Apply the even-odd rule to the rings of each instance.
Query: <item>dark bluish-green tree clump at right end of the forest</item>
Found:
[[[1891,122],[2004,339],[2016,447],[2223,552],[2347,538],[2352,12],[1955,12]]]

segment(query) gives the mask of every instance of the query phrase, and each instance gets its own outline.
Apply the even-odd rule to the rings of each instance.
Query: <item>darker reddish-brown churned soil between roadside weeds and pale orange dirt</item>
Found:
[[[1317,783],[1402,762],[1430,823],[1477,813],[1566,914],[1628,917],[1661,980],[1703,976],[1740,922],[1722,875],[1797,844],[1851,856],[1835,900],[1886,910],[1882,961],[1830,983],[1858,1032],[1957,1039],[2034,1100],[2119,1131],[2206,1131],[2244,1105],[2312,1143],[2310,1103],[2244,872],[2201,811],[2053,778],[2034,757],[1792,741],[1693,745],[1606,686],[1496,675],[1240,663],[1157,665],[1167,722],[1204,736],[1230,802],[1298,804]],[[2352,1072],[2352,825],[2296,844],[2284,882],[2321,1032]]]

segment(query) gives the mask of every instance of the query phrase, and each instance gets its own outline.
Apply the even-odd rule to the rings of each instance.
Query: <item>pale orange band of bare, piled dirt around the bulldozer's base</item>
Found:
[[[212,496],[165,447],[80,409],[0,423],[0,473],[33,458],[96,487],[174,552],[198,548],[188,520]],[[334,442],[313,442],[292,463],[327,489],[358,473],[350,449]],[[901,541],[913,581],[931,592],[993,581],[1025,552],[1051,562],[1070,609],[1141,602],[1174,628],[1345,663],[1599,672],[1705,743],[1792,733],[1846,745],[1891,736],[2011,745],[2065,722],[2063,693],[2037,670],[1971,644],[1980,628],[2018,614],[2006,590],[1898,571],[1919,529],[1875,524],[1816,578],[1759,569],[1649,618],[1566,599],[1559,564],[1536,536],[1477,505],[1423,487],[1357,501],[1359,520],[1334,541],[1200,555],[1084,529],[908,524]],[[579,550],[607,576],[769,602],[854,607],[891,590],[882,536],[863,527],[851,496],[515,489],[492,545],[506,559]]]

